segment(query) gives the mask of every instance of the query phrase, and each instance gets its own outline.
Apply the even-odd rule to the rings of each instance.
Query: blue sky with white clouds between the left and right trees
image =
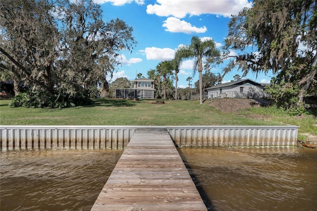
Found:
[[[251,0],[95,0],[101,5],[105,22],[119,18],[133,28],[138,42],[132,53],[122,52],[122,66],[118,66],[112,81],[118,77],[136,78],[136,73],[147,77],[160,61],[172,59],[180,45],[189,45],[192,36],[212,39],[219,50],[228,32],[230,14],[252,6]],[[234,53],[234,52],[233,52]],[[222,67],[211,71],[222,74]],[[178,87],[188,86],[186,79],[193,77],[193,62],[183,62]],[[204,72],[203,72],[204,73]],[[232,70],[222,83],[230,82],[241,71]],[[271,75],[251,73],[245,78],[268,83]],[[198,80],[195,74],[193,82]],[[175,83],[174,83],[175,84]]]

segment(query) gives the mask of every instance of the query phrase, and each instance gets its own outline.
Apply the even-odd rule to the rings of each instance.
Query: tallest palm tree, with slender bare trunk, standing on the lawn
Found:
[[[193,36],[189,46],[180,47],[176,53],[178,57],[194,58],[194,75],[196,70],[199,73],[199,98],[200,104],[203,104],[203,59],[213,62],[220,56],[220,52],[215,48],[215,43],[210,39],[202,41],[198,36]]]

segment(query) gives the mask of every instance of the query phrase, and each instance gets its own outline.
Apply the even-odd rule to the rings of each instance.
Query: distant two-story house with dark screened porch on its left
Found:
[[[131,80],[133,88],[131,89],[116,89],[115,98],[124,99],[154,99],[155,84],[154,80],[148,78],[140,78]]]

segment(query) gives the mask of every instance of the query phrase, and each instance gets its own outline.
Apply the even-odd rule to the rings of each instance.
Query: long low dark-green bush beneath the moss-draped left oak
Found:
[[[55,93],[49,95],[46,91],[20,93],[13,98],[10,107],[33,107],[33,108],[64,108],[90,105],[90,99],[73,97]]]

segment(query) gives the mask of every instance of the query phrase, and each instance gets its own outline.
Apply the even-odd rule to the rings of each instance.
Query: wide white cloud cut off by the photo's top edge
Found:
[[[147,6],[148,14],[184,18],[187,14],[215,14],[230,17],[244,7],[251,7],[249,0],[157,0]]]

